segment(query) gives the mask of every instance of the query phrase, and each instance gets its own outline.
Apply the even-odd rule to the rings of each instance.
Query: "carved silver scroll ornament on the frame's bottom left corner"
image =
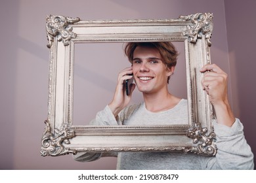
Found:
[[[65,154],[75,154],[75,150],[65,148],[62,142],[70,144],[68,139],[75,137],[75,132],[62,125],[62,129],[55,129],[54,134],[51,132],[51,126],[48,120],[45,120],[45,131],[42,137],[41,156],[60,156]]]

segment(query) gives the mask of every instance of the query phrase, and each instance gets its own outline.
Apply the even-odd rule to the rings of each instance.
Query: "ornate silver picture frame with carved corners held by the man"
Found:
[[[200,68],[211,63],[213,14],[167,20],[80,20],[47,16],[49,99],[41,156],[77,152],[180,151],[215,156],[213,107],[202,90]],[[74,45],[89,42],[184,42],[187,125],[73,124]],[[150,141],[148,141],[150,139]]]

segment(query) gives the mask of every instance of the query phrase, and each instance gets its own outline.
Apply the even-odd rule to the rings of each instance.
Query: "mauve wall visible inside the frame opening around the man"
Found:
[[[169,92],[187,99],[184,42],[173,44],[179,56],[168,84]],[[96,113],[112,101],[118,73],[131,66],[124,46],[125,42],[75,43],[73,125],[89,125]],[[130,105],[142,101],[142,93],[135,88]]]

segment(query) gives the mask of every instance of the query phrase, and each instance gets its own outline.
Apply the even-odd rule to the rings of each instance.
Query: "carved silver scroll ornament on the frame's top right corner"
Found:
[[[208,46],[211,46],[211,35],[213,31],[213,14],[212,13],[196,13],[188,16],[179,16],[181,20],[191,21],[192,26],[188,27],[187,31],[184,31],[183,35],[188,36],[190,42],[196,43],[198,38],[202,38],[205,35],[205,39]]]

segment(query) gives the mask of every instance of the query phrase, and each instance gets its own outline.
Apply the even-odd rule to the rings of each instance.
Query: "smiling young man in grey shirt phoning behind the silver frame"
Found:
[[[167,84],[175,70],[177,51],[171,42],[130,42],[125,54],[132,63],[118,76],[112,102],[98,112],[93,125],[166,125],[187,124],[185,99],[169,93]],[[203,157],[182,152],[119,152],[117,169],[253,169],[253,154],[244,138],[243,126],[228,103],[227,75],[217,65],[205,65],[202,90],[209,95],[217,121],[213,122],[217,135],[217,155]],[[210,71],[210,72],[205,72]],[[133,74],[133,76],[131,76]],[[127,106],[135,84],[126,95],[123,82],[134,77],[144,102]],[[78,153],[77,161],[93,161],[101,153]]]

